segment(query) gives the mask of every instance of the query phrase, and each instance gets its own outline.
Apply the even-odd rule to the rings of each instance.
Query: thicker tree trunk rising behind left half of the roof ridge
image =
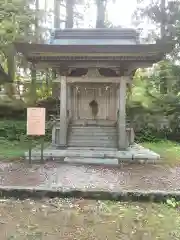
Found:
[[[74,0],[66,0],[66,28],[73,28],[74,4]]]

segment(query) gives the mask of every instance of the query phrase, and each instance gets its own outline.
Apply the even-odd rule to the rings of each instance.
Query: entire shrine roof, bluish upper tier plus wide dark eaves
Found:
[[[155,63],[172,43],[140,44],[134,29],[56,29],[49,44],[15,43],[28,61],[145,61]]]

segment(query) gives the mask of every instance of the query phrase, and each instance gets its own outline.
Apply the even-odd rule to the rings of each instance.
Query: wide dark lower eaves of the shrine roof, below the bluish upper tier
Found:
[[[162,57],[171,52],[172,43],[136,44],[136,45],[50,45],[15,43],[16,51],[23,54],[28,60],[48,59],[65,56],[121,56],[121,57]]]

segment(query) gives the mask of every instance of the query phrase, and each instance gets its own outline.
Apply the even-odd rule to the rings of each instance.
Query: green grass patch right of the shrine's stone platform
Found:
[[[161,155],[168,164],[180,163],[180,144],[172,141],[145,142],[144,147]]]

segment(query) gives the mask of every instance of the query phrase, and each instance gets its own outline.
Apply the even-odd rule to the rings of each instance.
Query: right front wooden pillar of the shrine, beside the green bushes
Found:
[[[127,134],[126,134],[126,84],[127,77],[121,77],[119,86],[119,114],[118,114],[118,128],[119,128],[119,150],[127,148]]]

